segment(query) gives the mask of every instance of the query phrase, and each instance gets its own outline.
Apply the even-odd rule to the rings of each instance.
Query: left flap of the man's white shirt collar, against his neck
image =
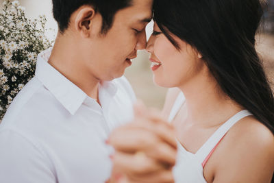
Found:
[[[35,75],[62,106],[74,115],[87,95],[48,63],[50,55],[51,49],[38,54]]]

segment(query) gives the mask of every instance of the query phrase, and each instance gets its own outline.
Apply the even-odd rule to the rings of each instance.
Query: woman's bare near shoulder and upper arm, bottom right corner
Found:
[[[270,182],[274,171],[273,133],[254,117],[245,117],[227,132],[213,161],[216,182],[224,178],[227,182]]]

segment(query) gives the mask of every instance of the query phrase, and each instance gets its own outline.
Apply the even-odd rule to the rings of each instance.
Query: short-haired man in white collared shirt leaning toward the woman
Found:
[[[145,49],[152,0],[53,0],[53,49],[0,127],[0,182],[105,182],[104,144],[133,116],[135,96],[121,77]],[[118,79],[115,79],[118,78]]]

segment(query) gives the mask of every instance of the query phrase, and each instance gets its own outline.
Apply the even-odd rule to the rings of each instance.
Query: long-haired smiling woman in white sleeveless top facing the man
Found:
[[[175,182],[271,182],[274,99],[254,48],[260,1],[155,0],[153,9],[147,51],[155,84],[173,88],[163,114],[178,142]],[[120,160],[145,151],[126,151],[142,134],[123,148],[116,135]],[[114,168],[138,177],[131,164]]]

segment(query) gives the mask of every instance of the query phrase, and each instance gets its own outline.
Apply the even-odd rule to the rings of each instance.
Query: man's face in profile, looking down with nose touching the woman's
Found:
[[[153,0],[132,0],[132,6],[116,12],[107,34],[100,35],[101,29],[96,30],[97,36],[90,38],[81,51],[89,73],[100,81],[123,75],[137,50],[147,45],[145,27],[152,16],[152,3]]]

